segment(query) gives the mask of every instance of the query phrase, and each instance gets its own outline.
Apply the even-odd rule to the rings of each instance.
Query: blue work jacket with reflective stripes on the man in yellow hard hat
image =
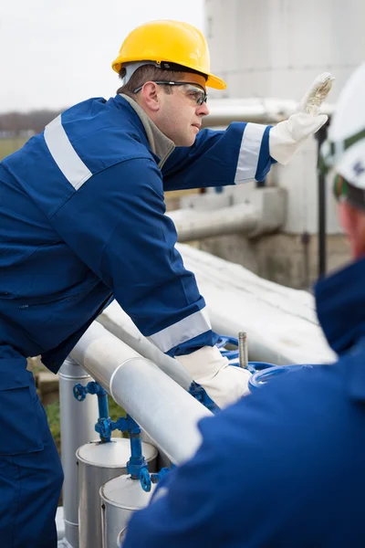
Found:
[[[115,298],[164,353],[213,345],[163,193],[264,180],[269,131],[233,123],[175,148],[120,95],[49,123],[0,164],[0,342],[57,372]]]

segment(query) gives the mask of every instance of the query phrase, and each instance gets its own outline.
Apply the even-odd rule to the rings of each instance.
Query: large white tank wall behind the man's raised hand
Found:
[[[212,97],[300,100],[319,72],[336,78],[329,100],[365,59],[363,0],[205,0],[212,69],[226,79]],[[317,233],[317,142],[313,139],[274,180],[287,188],[285,230]],[[328,192],[328,233],[338,233]]]

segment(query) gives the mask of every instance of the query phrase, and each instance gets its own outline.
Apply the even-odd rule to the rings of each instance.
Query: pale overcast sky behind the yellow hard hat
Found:
[[[0,0],[0,111],[114,95],[121,42],[152,19],[203,30],[203,0]]]

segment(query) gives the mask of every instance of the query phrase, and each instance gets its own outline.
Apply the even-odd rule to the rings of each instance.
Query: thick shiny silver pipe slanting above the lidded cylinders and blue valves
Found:
[[[210,411],[150,360],[94,322],[72,357],[102,385],[177,464],[201,443],[198,421]]]

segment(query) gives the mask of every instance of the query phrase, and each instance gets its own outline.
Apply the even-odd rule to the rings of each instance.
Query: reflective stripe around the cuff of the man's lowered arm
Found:
[[[183,320],[177,321],[147,338],[165,353],[178,346],[178,344],[190,341],[190,339],[198,337],[211,329],[212,325],[208,312],[204,307],[201,311],[194,312],[190,316],[183,318]]]

